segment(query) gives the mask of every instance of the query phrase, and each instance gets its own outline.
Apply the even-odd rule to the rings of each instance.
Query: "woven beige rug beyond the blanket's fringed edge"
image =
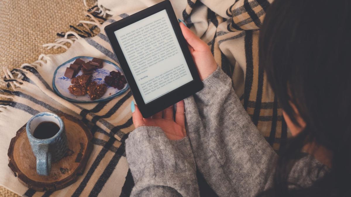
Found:
[[[88,6],[94,3],[87,0]],[[82,0],[0,0],[0,76],[3,68],[32,63],[42,53],[65,52],[62,47],[47,50],[42,45],[57,39],[56,33],[72,30],[69,25],[86,20],[86,10]],[[0,186],[0,196],[18,195]]]

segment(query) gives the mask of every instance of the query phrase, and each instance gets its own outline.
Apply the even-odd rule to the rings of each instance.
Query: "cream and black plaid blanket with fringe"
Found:
[[[99,0],[98,7],[112,16],[98,26],[103,29],[159,1]],[[258,66],[259,27],[271,1],[171,0],[178,18],[184,19],[188,27],[208,43],[218,65],[232,77],[233,88],[254,124],[272,147],[279,150],[279,144],[285,142],[288,132],[282,110],[263,69]],[[93,56],[118,64],[104,31],[94,37],[81,36],[81,32],[66,33],[72,35],[74,41],[67,52],[41,55],[38,61],[13,69],[3,78],[11,90],[0,91],[1,96],[7,98],[0,100],[0,185],[20,195],[128,196],[133,187],[124,146],[128,133],[134,129],[131,91],[110,101],[77,104],[62,99],[52,90],[55,68],[72,57]],[[94,148],[84,174],[77,182],[55,192],[35,192],[26,188],[7,167],[6,153],[11,138],[31,116],[41,111],[78,117],[94,136]]]

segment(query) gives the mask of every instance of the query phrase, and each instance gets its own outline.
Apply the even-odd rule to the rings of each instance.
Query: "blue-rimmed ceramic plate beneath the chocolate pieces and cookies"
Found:
[[[91,101],[90,97],[88,94],[85,96],[75,96],[68,91],[68,86],[72,85],[71,84],[71,79],[68,79],[67,77],[64,76],[66,68],[69,67],[75,59],[80,58],[81,60],[84,60],[85,62],[90,61],[93,59],[93,57],[87,57],[87,56],[79,56],[79,57],[73,57],[72,59],[68,60],[67,62],[61,64],[57,69],[55,70],[54,73],[54,78],[52,80],[52,86],[60,97],[66,99],[67,101],[71,102],[77,102],[77,103],[94,103],[94,102],[101,102],[101,101],[107,101],[111,100],[114,97],[117,97],[129,88],[128,84],[124,85],[124,88],[121,90],[118,90],[117,88],[113,88],[110,86],[107,86],[106,93],[101,96],[100,99],[97,99],[95,101]],[[96,81],[97,83],[105,83],[104,79],[105,76],[110,75],[111,71],[119,71],[120,73],[123,73],[122,70],[114,63],[104,60],[103,61],[104,68],[96,69],[94,70],[93,73],[93,81]],[[82,71],[80,70],[78,75],[81,75]],[[77,76],[78,76],[77,75]]]

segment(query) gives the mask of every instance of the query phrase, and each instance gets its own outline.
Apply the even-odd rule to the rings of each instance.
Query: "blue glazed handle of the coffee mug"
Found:
[[[48,176],[51,170],[51,153],[49,144],[39,144],[37,154],[37,173],[38,175]]]

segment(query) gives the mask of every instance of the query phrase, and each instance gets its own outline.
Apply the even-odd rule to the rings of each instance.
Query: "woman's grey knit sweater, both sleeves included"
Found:
[[[203,83],[203,90],[185,99],[188,137],[171,141],[161,128],[146,126],[129,135],[131,196],[199,196],[196,168],[219,196],[256,196],[271,188],[276,152],[251,122],[231,79],[217,68]],[[309,186],[326,170],[305,156],[289,181]]]

